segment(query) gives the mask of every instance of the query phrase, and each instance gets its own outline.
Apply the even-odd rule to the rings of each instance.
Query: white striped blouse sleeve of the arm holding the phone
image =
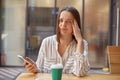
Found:
[[[43,72],[43,65],[44,65],[44,53],[45,53],[45,40],[42,41],[38,58],[36,61],[36,66],[38,68],[38,72]]]

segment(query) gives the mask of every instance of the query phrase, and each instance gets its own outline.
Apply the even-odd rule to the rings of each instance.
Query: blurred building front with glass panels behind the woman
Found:
[[[36,61],[43,38],[56,33],[58,11],[70,5],[80,13],[91,68],[108,67],[106,46],[116,43],[120,0],[1,0],[0,3],[0,66],[23,66],[18,54]]]

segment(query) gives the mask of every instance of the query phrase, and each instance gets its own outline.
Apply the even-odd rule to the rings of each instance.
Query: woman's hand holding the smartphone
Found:
[[[26,57],[26,60],[27,61],[24,61],[24,65],[25,65],[27,71],[32,72],[32,73],[37,73],[37,66],[36,66],[35,62],[28,57]]]

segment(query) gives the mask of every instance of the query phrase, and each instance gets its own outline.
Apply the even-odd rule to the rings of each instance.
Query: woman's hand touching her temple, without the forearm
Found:
[[[73,27],[73,35],[75,36],[75,39],[77,40],[77,42],[82,41],[81,30],[76,20],[72,22],[72,27]]]

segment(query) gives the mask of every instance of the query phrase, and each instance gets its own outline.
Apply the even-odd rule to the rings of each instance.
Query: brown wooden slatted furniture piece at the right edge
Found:
[[[107,46],[110,73],[120,73],[120,46]]]

